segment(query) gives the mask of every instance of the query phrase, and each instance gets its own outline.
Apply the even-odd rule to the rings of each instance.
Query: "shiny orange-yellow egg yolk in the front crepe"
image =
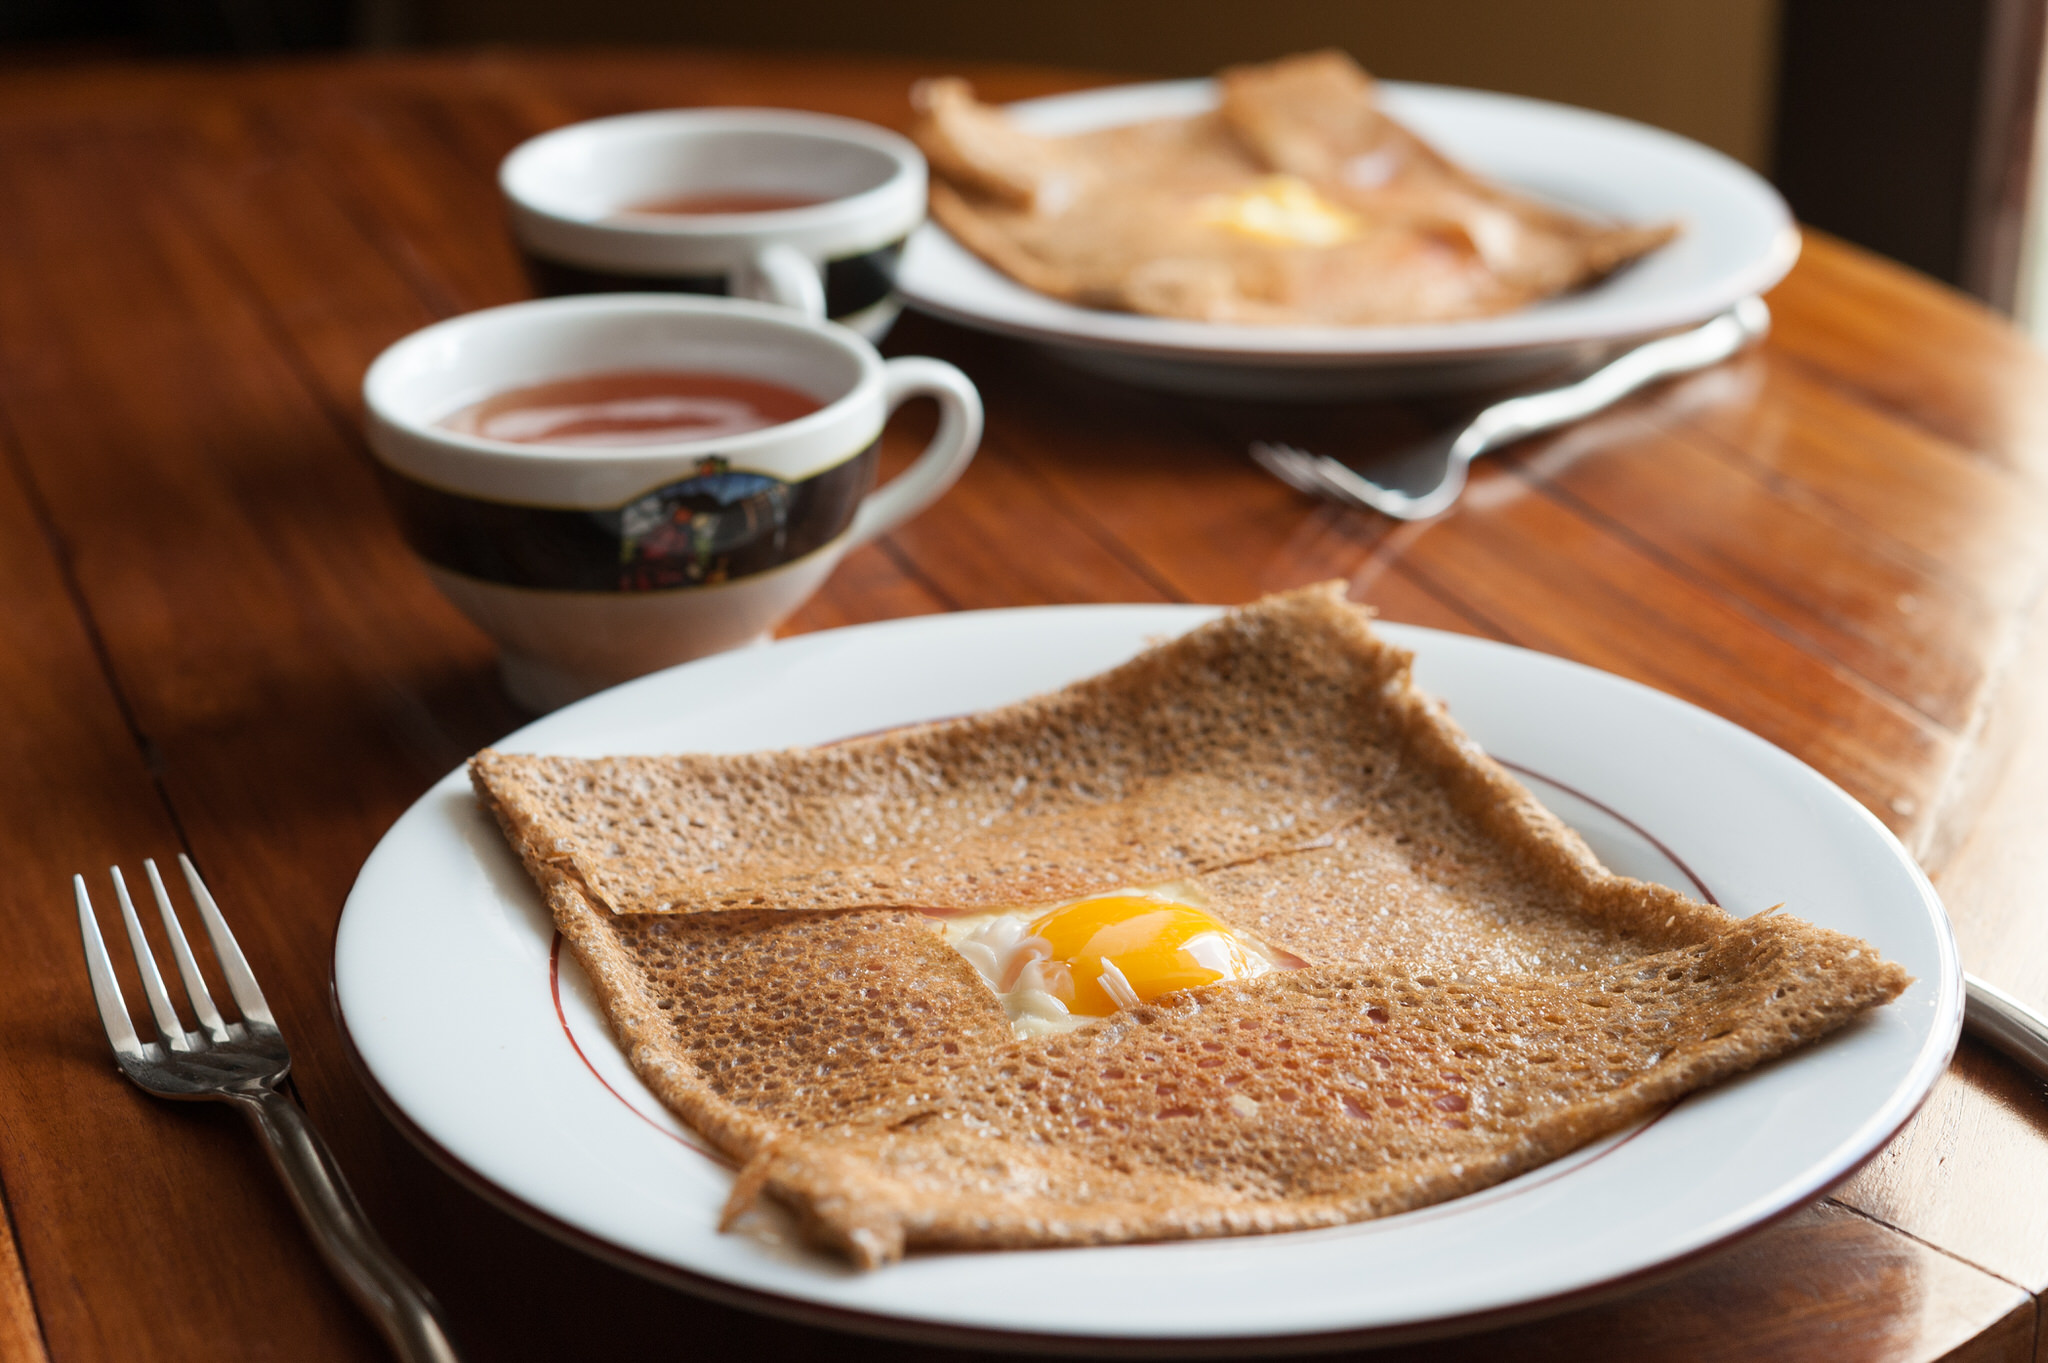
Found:
[[[1200,909],[1147,894],[1104,894],[1065,905],[1030,925],[1053,948],[1051,993],[1067,1011],[1108,1017],[1176,988],[1251,978],[1231,929]]]

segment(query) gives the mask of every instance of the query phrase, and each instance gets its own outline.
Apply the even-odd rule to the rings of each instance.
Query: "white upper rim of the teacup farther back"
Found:
[[[821,203],[758,213],[602,217],[559,192],[563,170],[582,170],[612,141],[662,147],[729,135],[788,137],[879,156],[889,174]],[[590,119],[522,141],[498,168],[514,235],[528,250],[604,270],[719,270],[737,244],[772,235],[825,260],[881,250],[924,221],[926,164],[915,143],[858,119],[795,108],[657,108]],[[602,213],[618,213],[612,203]]]

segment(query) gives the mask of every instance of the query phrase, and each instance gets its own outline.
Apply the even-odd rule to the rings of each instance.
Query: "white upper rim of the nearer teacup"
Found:
[[[649,350],[645,366],[662,368],[657,350],[664,338],[651,327],[664,321],[696,329],[733,327],[756,340],[778,338],[805,346],[813,360],[842,360],[848,383],[838,385],[838,395],[825,397],[791,383],[786,372],[741,364],[725,372],[788,383],[817,399],[819,409],[737,436],[645,446],[520,444],[440,426],[463,407],[506,389],[631,366],[616,358],[590,358],[584,364],[528,358],[522,366],[500,364],[498,379],[469,377],[449,383],[434,397],[422,395],[432,391],[436,372],[457,370],[465,358],[475,362],[473,354],[463,352],[473,352],[485,338],[516,348],[520,342],[514,338],[524,334],[528,356],[565,356],[573,354],[575,336],[621,327],[629,336],[614,340],[614,346],[643,346]],[[641,336],[633,338],[633,329]],[[680,334],[666,340],[674,346]],[[731,350],[721,348],[719,354]],[[766,473],[786,483],[815,477],[858,454],[881,434],[887,417],[883,391],[881,354],[834,321],[770,303],[674,293],[598,293],[485,307],[391,342],[362,375],[371,450],[393,473],[485,501],[588,510],[623,505],[676,477],[688,477],[707,458],[723,458],[733,469]],[[850,424],[858,430],[848,430]]]

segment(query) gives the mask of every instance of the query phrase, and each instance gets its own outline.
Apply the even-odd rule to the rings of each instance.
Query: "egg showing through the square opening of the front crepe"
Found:
[[[946,941],[1004,1001],[1020,1038],[1071,1031],[1176,988],[1280,968],[1266,943],[1202,909],[1190,884],[969,913],[946,919]]]

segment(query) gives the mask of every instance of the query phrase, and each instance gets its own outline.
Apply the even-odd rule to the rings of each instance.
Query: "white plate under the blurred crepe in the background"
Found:
[[[1382,82],[1386,108],[1468,170],[1587,217],[1683,233],[1612,278],[1503,317],[1399,327],[1260,327],[1143,317],[1047,297],[926,223],[903,254],[911,307],[1042,342],[1112,377],[1239,397],[1362,397],[1507,383],[1618,342],[1706,321],[1798,258],[1784,199],[1747,166],[1661,129],[1513,94]],[[1010,104],[1063,135],[1186,117],[1208,80],[1114,86]]]

